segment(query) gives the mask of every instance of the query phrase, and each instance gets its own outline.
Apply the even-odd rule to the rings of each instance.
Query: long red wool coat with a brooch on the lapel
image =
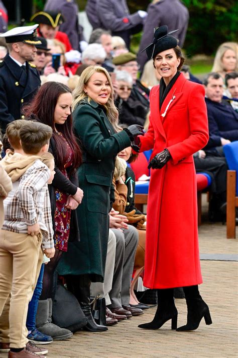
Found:
[[[151,90],[150,126],[140,136],[141,152],[153,149],[152,159],[167,148],[172,160],[151,170],[144,276],[150,289],[202,283],[192,155],[208,141],[204,94],[201,85],[180,75],[160,111],[159,86]]]

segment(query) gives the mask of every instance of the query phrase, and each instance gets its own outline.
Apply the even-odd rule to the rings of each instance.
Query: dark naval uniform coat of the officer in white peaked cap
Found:
[[[0,127],[24,119],[22,107],[31,102],[41,85],[36,66],[26,62],[23,69],[7,54],[0,60]]]

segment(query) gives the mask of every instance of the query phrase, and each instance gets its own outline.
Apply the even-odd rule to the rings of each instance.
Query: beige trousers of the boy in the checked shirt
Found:
[[[6,342],[9,331],[11,348],[23,348],[28,342],[27,311],[42,265],[41,243],[41,233],[30,236],[0,231],[0,316],[4,313],[0,318],[4,337],[0,341]]]

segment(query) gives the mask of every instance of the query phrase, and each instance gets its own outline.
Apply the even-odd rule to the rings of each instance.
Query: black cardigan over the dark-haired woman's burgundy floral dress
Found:
[[[69,176],[67,179],[61,171],[58,169],[58,162],[57,162],[57,155],[56,155],[56,146],[55,140],[53,137],[50,139],[50,147],[49,152],[53,154],[55,160],[55,176],[52,181],[52,184],[48,185],[49,193],[50,193],[50,204],[51,204],[51,215],[52,215],[52,222],[53,222],[53,229],[55,233],[55,210],[56,210],[56,195],[55,190],[58,189],[64,193],[69,195],[74,195],[78,188],[78,176],[75,172]],[[69,171],[70,167],[66,169]],[[79,229],[78,229],[78,220],[76,210],[71,210],[70,216],[70,232],[69,232],[69,242],[73,241],[80,241]]]

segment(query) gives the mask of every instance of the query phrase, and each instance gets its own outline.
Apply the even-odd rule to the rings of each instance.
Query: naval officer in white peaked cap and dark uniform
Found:
[[[17,27],[1,37],[6,38],[9,53],[0,60],[0,126],[24,119],[23,105],[29,103],[38,91],[41,80],[36,66],[29,62],[36,55],[36,44],[41,43],[35,29],[38,25]]]

